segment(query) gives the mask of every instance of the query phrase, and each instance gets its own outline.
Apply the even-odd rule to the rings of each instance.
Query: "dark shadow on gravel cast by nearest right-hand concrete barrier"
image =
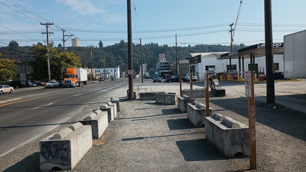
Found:
[[[223,159],[206,139],[176,141],[185,161],[210,161]]]

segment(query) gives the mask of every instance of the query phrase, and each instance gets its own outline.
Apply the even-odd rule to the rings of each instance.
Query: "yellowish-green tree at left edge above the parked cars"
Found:
[[[2,56],[2,53],[0,53],[0,56]],[[18,66],[15,63],[21,62],[6,58],[0,58],[0,81],[6,81],[16,77]]]

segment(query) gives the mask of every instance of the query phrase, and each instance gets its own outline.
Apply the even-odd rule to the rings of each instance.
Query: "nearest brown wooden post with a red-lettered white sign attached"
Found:
[[[255,96],[254,96],[254,72],[244,72],[245,95],[248,97],[249,116],[249,143],[250,143],[250,168],[257,169],[256,159],[256,129],[255,129]]]

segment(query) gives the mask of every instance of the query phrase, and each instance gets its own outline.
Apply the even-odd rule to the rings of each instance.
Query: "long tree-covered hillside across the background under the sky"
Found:
[[[40,46],[43,46],[42,43],[38,43]],[[104,59],[106,68],[114,67],[115,65],[123,66],[127,69],[128,63],[128,44],[124,40],[121,40],[120,43],[115,43],[110,46],[103,46],[103,42],[99,41],[97,43],[99,47],[92,48],[92,64],[94,68],[104,68]],[[138,65],[140,64],[140,45],[133,43],[133,69],[138,71]],[[244,44],[234,44],[233,50],[244,48]],[[62,51],[62,44],[58,45],[58,50]],[[80,57],[80,62],[86,67],[91,67],[90,61],[90,48],[89,47],[65,47],[67,52],[72,52],[76,56]],[[185,59],[185,56],[188,54],[188,48],[190,53],[202,53],[202,52],[223,52],[230,51],[229,46],[214,44],[200,44],[195,46],[187,47],[177,47],[177,53],[179,59]],[[147,63],[147,68],[155,68],[156,63],[159,61],[159,54],[165,54],[167,61],[175,61],[175,46],[168,46],[166,44],[159,46],[158,43],[144,43],[142,50],[143,54],[143,63]],[[35,56],[31,54],[33,46],[18,46],[16,41],[12,41],[7,47],[0,47],[0,52],[3,53],[2,58],[8,58],[12,60],[21,61],[22,64],[29,64],[29,61],[32,61]],[[51,54],[52,55],[52,54]],[[115,61],[115,62],[114,62]],[[137,62],[139,64],[137,64]]]

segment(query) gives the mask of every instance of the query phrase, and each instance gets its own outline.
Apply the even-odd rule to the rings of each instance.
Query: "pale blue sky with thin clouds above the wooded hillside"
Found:
[[[80,38],[80,46],[98,46],[99,40],[102,40],[104,46],[119,43],[121,39],[127,42],[125,0],[0,0],[0,2],[2,3],[0,4],[0,42],[2,42],[0,46],[5,46],[3,43],[9,43],[10,40],[16,40],[19,46],[43,42],[46,35],[40,32],[46,32],[46,27],[40,25],[40,22],[47,21],[56,24],[49,28],[49,32],[54,32],[50,39],[55,45],[62,43],[60,28],[68,31],[65,34],[71,33]],[[22,7],[18,8],[18,5],[38,14],[41,18],[27,13],[21,9]],[[177,34],[178,46],[202,43],[229,45],[229,24],[236,22],[239,6],[240,0],[132,0],[132,30],[142,31],[133,33],[133,43],[139,43],[141,37],[143,44],[153,42],[174,46]],[[283,42],[284,35],[306,29],[305,6],[305,0],[272,1],[273,42]],[[245,45],[263,43],[263,24],[263,0],[244,0],[234,34],[234,43]],[[12,31],[9,29],[15,32],[34,33],[11,34]],[[168,31],[165,32],[166,30]],[[184,36],[186,34],[190,35]],[[65,46],[71,46],[69,39]]]

